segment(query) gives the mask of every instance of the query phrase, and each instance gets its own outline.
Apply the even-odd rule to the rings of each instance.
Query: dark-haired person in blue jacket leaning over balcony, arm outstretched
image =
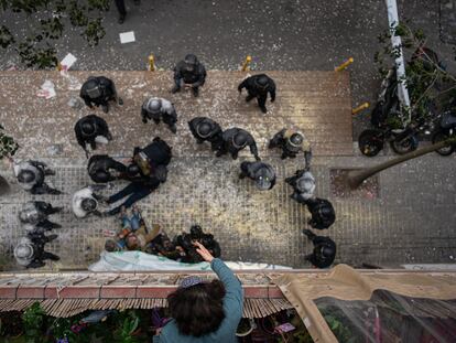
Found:
[[[172,320],[153,337],[154,343],[238,342],[236,329],[242,318],[242,286],[221,259],[214,258],[202,244],[195,246],[220,280],[183,279],[167,297]]]

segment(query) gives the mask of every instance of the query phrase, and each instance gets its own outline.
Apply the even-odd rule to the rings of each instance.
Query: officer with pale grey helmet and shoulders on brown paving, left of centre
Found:
[[[173,133],[176,133],[177,114],[174,105],[163,98],[150,98],[142,104],[141,107],[142,122],[146,124],[148,120],[153,120],[155,124],[160,124],[163,120],[170,127]]]

